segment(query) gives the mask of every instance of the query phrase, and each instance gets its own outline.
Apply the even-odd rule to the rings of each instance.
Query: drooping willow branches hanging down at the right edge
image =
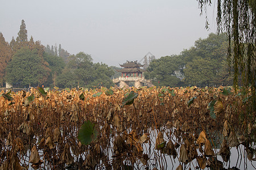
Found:
[[[211,1],[199,1],[201,13],[211,5]],[[256,1],[225,0],[217,1],[217,29],[226,32],[229,40],[228,62],[234,70],[234,87],[242,77],[243,88],[251,96],[251,106],[256,108]],[[207,27],[208,27],[207,22]],[[232,53],[233,51],[233,53]]]

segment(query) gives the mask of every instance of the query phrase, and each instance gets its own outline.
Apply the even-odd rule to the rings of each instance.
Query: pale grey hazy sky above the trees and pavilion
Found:
[[[16,39],[24,19],[28,39],[32,35],[45,46],[61,44],[71,54],[85,52],[94,62],[114,66],[140,61],[148,52],[156,58],[179,54],[216,32],[214,4],[208,9],[207,31],[196,0],[0,2],[0,32],[6,41]]]

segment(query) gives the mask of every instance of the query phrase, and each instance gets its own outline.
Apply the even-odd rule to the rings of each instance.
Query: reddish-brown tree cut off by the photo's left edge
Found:
[[[13,52],[10,45],[5,41],[2,32],[0,32],[0,86],[3,86],[5,78],[5,69],[11,60]]]

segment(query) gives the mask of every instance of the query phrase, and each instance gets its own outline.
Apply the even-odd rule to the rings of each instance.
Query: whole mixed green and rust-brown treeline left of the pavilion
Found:
[[[0,32],[0,86],[14,87],[110,87],[114,86],[112,68],[104,63],[93,63],[89,54],[69,54],[57,46],[44,46],[40,41],[27,39],[24,20],[18,37],[5,41]]]

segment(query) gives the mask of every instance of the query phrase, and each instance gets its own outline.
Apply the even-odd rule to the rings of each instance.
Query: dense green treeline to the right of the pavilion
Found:
[[[233,70],[229,69],[227,50],[225,33],[210,33],[179,55],[154,59],[144,76],[155,86],[232,86]]]

